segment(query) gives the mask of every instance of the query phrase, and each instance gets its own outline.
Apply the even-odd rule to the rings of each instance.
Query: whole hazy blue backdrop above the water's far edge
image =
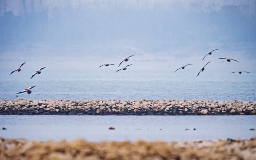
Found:
[[[133,54],[121,67],[256,72],[256,0],[0,0],[0,14],[2,72],[112,70],[98,66]]]

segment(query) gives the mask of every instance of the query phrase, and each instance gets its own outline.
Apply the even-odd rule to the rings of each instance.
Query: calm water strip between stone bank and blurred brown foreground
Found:
[[[251,138],[256,116],[0,116],[0,136],[29,140],[215,140]],[[115,130],[109,130],[109,127]],[[196,130],[193,130],[196,128]]]

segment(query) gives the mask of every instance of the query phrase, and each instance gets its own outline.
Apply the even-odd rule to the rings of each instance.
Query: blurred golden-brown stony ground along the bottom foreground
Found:
[[[251,139],[160,142],[0,138],[0,160],[256,160]]]

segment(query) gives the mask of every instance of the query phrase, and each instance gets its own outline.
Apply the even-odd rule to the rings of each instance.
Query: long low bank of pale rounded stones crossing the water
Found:
[[[256,102],[214,100],[0,100],[0,115],[256,115]]]

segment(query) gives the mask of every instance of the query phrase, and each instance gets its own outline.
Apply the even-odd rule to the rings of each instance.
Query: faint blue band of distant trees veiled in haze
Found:
[[[89,10],[81,7],[47,8],[22,15],[6,11],[1,0],[0,46],[20,42],[90,43],[136,41],[174,41],[177,44],[205,41],[256,41],[255,16],[246,16],[236,6],[220,11],[181,10]],[[22,2],[25,2],[24,0]],[[40,1],[41,2],[41,1]],[[41,2],[42,3],[42,2]],[[31,10],[31,9],[30,9]]]

